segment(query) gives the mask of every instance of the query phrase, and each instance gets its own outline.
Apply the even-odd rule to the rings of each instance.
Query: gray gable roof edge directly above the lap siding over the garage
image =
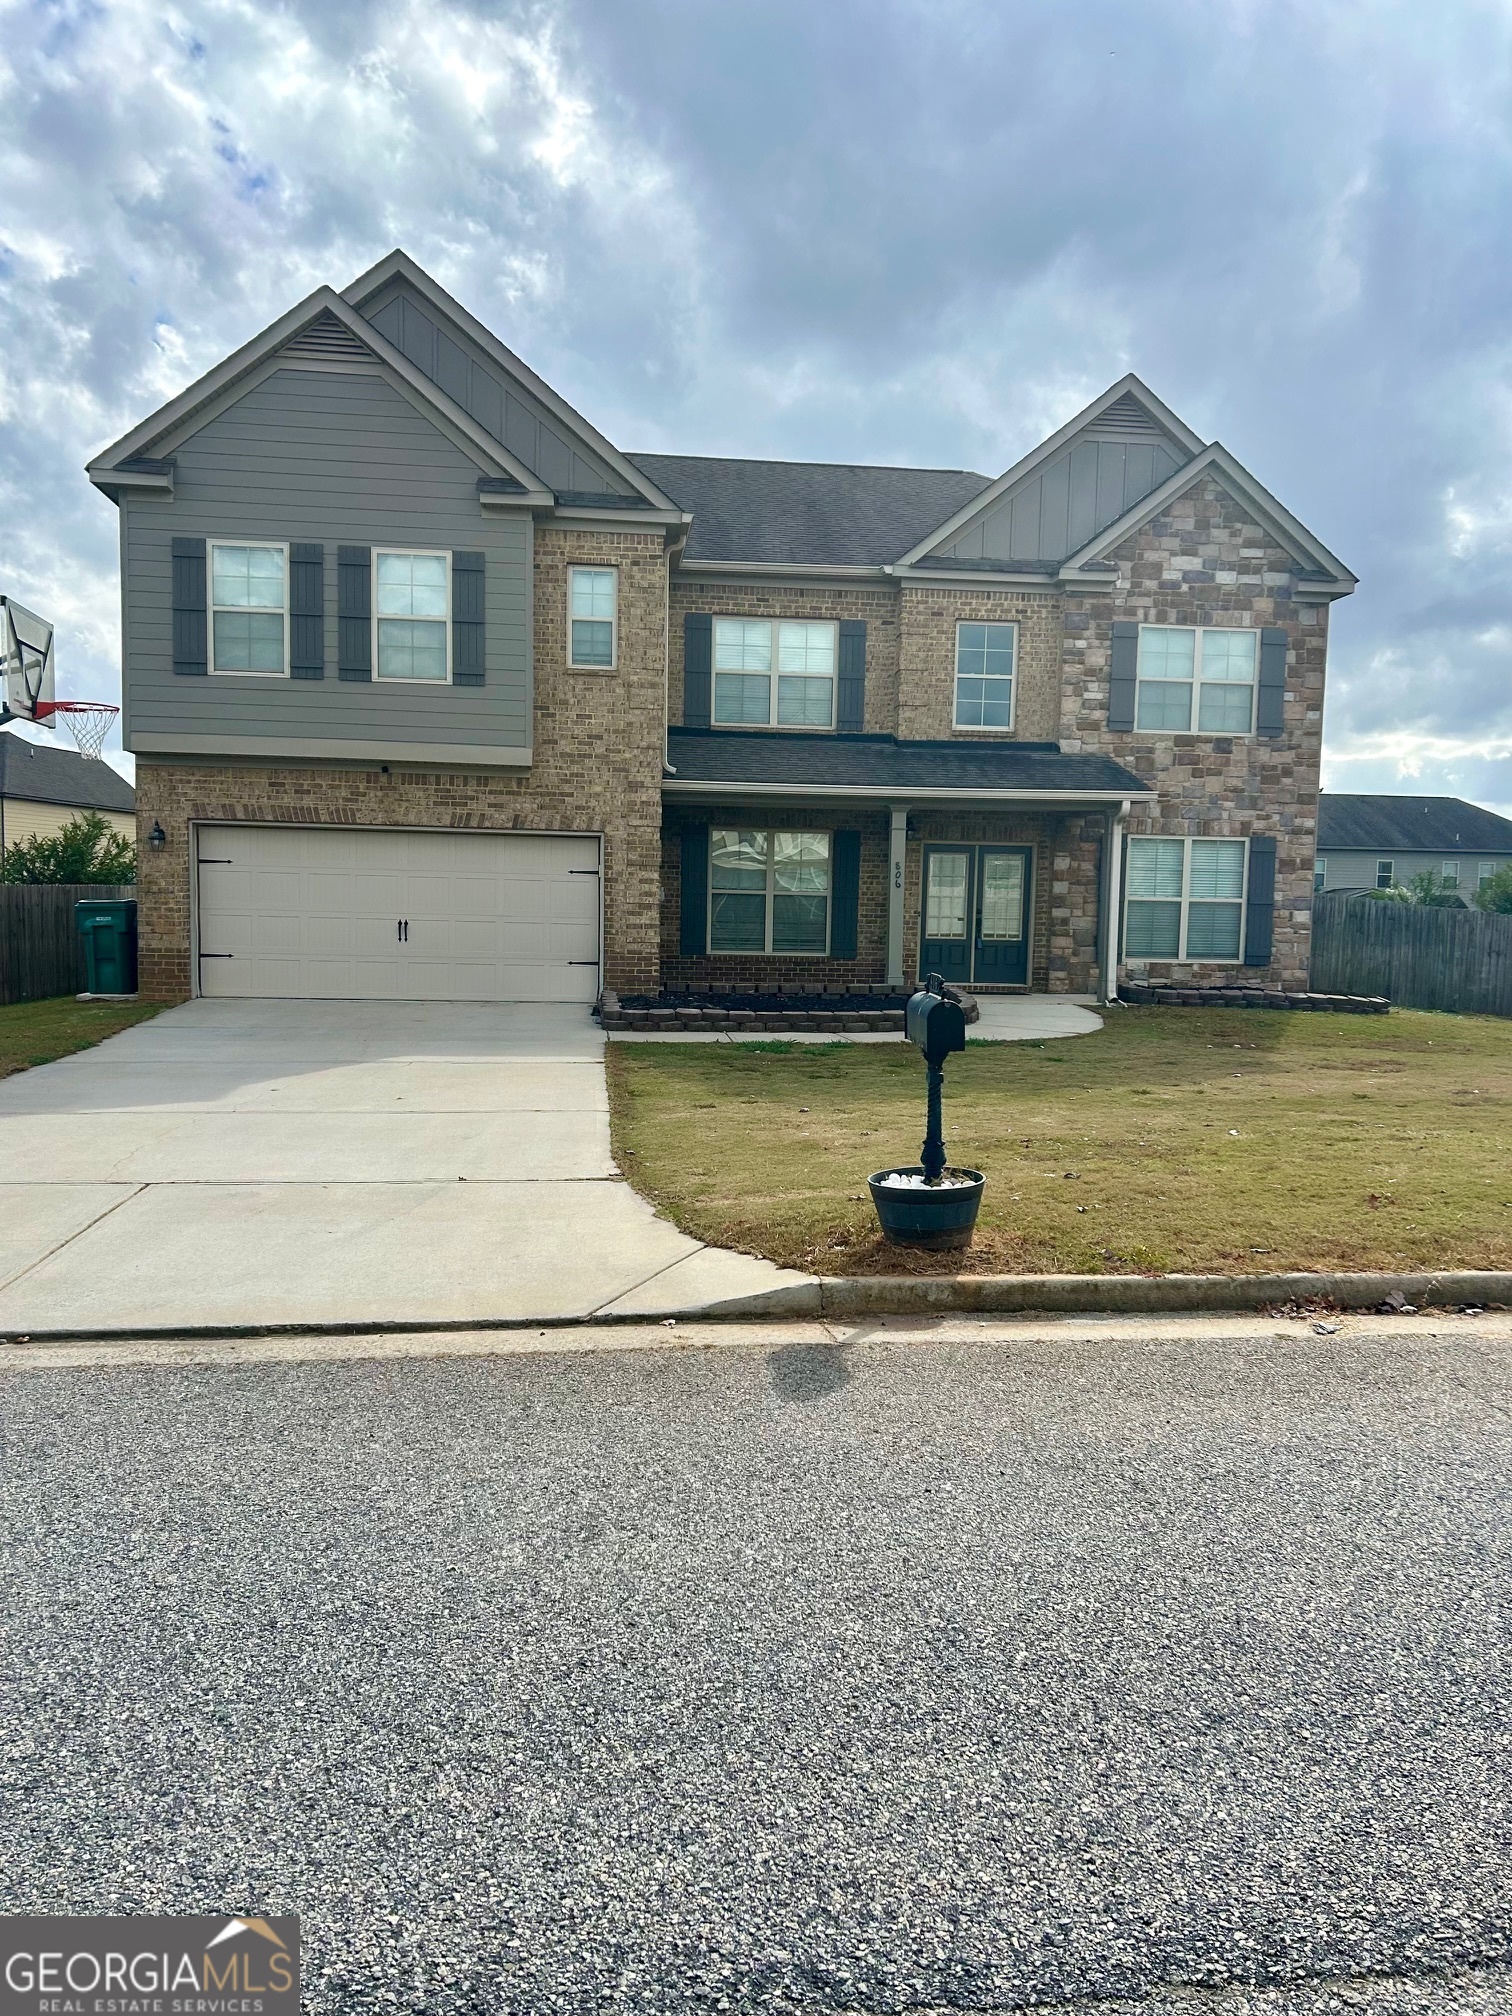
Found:
[[[395,391],[399,391],[411,405],[427,413],[433,421],[442,423],[444,431],[452,435],[458,446],[478,462],[478,466],[488,476],[502,476],[518,482],[524,490],[524,500],[550,504],[552,496],[544,490],[530,468],[512,456],[502,442],[496,442],[488,429],[480,427],[478,421],[466,413],[456,399],[452,399],[439,385],[417,371],[409,359],[397,351],[389,339],[373,329],[371,323],[363,321],[355,308],[351,308],[341,294],[329,286],[317,286],[312,294],[296,302],[278,321],[270,323],[264,331],[244,343],[240,351],[232,351],[224,357],[212,371],[187,385],[175,399],[167,405],[157,407],[147,419],[123,433],[119,442],[113,442],[99,456],[87,464],[89,480],[105,490],[107,496],[117,496],[125,488],[135,484],[151,486],[155,490],[169,490],[173,482],[171,462],[161,460],[161,452],[171,450],[173,442],[198,425],[204,425],[220,403],[228,403],[250,389],[254,375],[278,369],[280,353],[290,351],[288,363],[298,369],[300,363],[310,361],[319,349],[331,353],[333,345],[345,339],[355,339],[367,355],[385,371]],[[157,452],[157,454],[153,454]]]

